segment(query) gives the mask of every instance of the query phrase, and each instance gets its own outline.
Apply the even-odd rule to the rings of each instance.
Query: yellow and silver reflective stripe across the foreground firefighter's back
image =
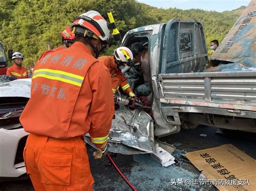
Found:
[[[54,69],[37,69],[34,71],[32,79],[35,79],[36,77],[45,77],[46,79],[50,80],[58,80],[79,87],[82,86],[84,80],[83,76]]]

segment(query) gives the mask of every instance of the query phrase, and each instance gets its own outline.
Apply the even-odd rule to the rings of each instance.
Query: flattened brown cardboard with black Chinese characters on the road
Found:
[[[256,161],[232,144],[185,155],[219,190],[256,190]]]

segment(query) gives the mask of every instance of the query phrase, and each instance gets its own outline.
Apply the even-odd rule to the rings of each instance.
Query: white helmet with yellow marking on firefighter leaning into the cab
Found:
[[[129,48],[121,46],[117,49],[114,49],[114,58],[121,62],[132,62],[133,54]]]

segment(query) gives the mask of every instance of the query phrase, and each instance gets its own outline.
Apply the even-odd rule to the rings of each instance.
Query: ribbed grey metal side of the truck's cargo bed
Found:
[[[160,102],[234,113],[256,111],[255,76],[255,71],[160,74]]]

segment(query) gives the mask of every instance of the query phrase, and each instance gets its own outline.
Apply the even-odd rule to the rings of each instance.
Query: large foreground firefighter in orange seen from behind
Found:
[[[89,132],[104,152],[112,123],[111,77],[96,59],[109,43],[107,22],[89,11],[71,29],[74,44],[38,61],[31,98],[20,117],[30,132],[23,155],[35,190],[92,190],[81,137]]]

